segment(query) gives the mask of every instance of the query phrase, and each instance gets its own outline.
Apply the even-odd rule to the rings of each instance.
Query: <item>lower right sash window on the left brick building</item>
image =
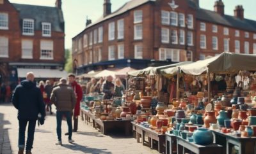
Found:
[[[42,40],[40,43],[40,59],[53,59],[53,42]]]

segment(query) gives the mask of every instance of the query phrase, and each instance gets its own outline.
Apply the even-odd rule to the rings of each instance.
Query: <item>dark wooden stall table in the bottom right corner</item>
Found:
[[[224,148],[223,153],[232,153],[232,147],[239,147],[239,154],[256,154],[256,137],[237,137],[225,134],[219,130],[212,130],[217,144]]]

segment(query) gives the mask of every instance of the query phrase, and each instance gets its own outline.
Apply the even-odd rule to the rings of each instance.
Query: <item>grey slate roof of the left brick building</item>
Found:
[[[12,4],[19,11],[20,19],[35,20],[35,31],[42,31],[42,22],[50,22],[52,31],[64,32],[64,18],[61,9],[49,6]]]

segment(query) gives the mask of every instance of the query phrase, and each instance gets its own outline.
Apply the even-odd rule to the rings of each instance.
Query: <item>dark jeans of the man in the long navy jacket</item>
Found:
[[[31,151],[33,148],[34,134],[36,128],[36,120],[19,120],[19,148],[25,147],[25,131],[28,123],[28,139],[26,151]]]

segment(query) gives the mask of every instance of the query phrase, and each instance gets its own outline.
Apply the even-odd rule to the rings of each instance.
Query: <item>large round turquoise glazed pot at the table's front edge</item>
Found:
[[[196,144],[209,145],[213,143],[213,135],[211,130],[206,128],[198,128],[193,133],[193,139]]]

